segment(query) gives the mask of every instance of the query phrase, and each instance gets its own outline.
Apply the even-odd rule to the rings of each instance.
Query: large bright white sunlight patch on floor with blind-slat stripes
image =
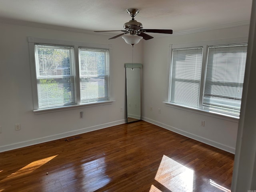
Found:
[[[194,171],[164,155],[155,180],[172,192],[192,192]]]

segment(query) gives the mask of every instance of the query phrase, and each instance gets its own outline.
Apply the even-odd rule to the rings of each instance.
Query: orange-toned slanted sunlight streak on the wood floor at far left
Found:
[[[2,181],[9,180],[9,179],[15,178],[15,177],[19,177],[19,176],[24,175],[24,174],[29,174],[29,173],[33,172],[34,170],[36,170],[37,168],[39,168],[40,166],[46,164],[47,162],[49,162],[50,160],[52,160],[56,156],[58,156],[58,155],[54,155],[54,156],[51,156],[51,157],[47,157],[47,158],[44,158],[44,159],[40,159],[40,160],[36,160],[34,162],[31,162],[30,164],[28,164],[28,165],[24,166],[23,168],[19,169],[18,171],[10,174],[6,178],[4,178]]]

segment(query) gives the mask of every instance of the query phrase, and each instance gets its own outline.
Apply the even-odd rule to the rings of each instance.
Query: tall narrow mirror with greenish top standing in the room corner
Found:
[[[126,109],[127,122],[141,119],[141,69],[140,63],[126,63]]]

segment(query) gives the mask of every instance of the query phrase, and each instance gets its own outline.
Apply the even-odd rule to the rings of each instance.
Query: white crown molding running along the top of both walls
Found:
[[[70,28],[70,27],[65,27],[65,26],[56,26],[56,25],[50,25],[50,24],[42,24],[42,23],[36,23],[36,22],[28,22],[28,21],[22,21],[22,20],[12,20],[12,19],[0,18],[0,22],[95,35],[95,32],[90,31],[90,30]],[[172,36],[193,34],[193,33],[199,33],[199,32],[211,31],[211,30],[219,30],[219,29],[225,29],[225,28],[233,28],[233,27],[238,27],[238,26],[248,26],[249,27],[249,25],[250,25],[250,20],[245,20],[245,21],[233,22],[233,23],[205,27],[205,28],[196,28],[196,29],[191,29],[191,30],[178,31],[178,32],[174,32],[172,34]],[[110,36],[110,34],[103,34],[103,33],[101,33],[101,35]],[[170,34],[163,34],[163,35],[159,35],[159,36],[155,36],[155,37],[157,38],[157,37],[166,37],[166,36],[170,36]]]

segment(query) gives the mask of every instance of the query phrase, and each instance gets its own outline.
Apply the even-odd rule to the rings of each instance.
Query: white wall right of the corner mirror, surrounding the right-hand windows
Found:
[[[169,44],[182,44],[223,40],[230,38],[248,38],[249,26],[240,26],[187,35],[169,35],[145,41],[143,44],[143,119],[194,138],[206,144],[216,146],[228,152],[235,152],[238,120],[209,116],[208,114],[188,112],[166,106],[168,101],[168,63]],[[153,111],[150,111],[150,107]],[[161,113],[158,113],[158,108]],[[201,120],[205,126],[200,126]]]

